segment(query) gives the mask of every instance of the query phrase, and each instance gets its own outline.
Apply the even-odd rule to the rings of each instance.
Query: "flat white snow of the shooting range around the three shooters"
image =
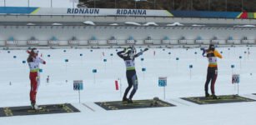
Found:
[[[230,48],[230,50],[228,50]],[[117,56],[116,49],[41,49],[46,65],[41,65],[41,84],[38,88],[39,105],[72,103],[81,112],[46,114],[33,116],[0,117],[1,125],[255,125],[256,102],[233,102],[198,105],[183,101],[179,97],[204,96],[204,82],[208,67],[207,58],[202,57],[200,48],[149,48],[136,59],[138,91],[133,97],[152,99],[159,97],[173,103],[176,107],[152,107],[106,111],[93,102],[121,100],[120,91],[115,90],[114,81],[121,78],[122,96],[128,86],[123,60]],[[121,48],[118,51],[122,50]],[[139,51],[140,48],[137,48]],[[256,47],[218,47],[223,59],[218,59],[218,78],[215,84],[217,95],[234,94],[231,83],[231,65],[233,72],[241,76],[239,94],[256,99]],[[25,50],[0,50],[0,107],[28,106],[29,69],[23,64],[28,53]],[[153,56],[153,52],[156,55]],[[103,56],[103,52],[104,55]],[[168,52],[171,52],[169,55]],[[195,54],[197,52],[197,54]],[[247,52],[247,53],[244,53]],[[83,56],[80,56],[83,53]],[[110,54],[113,53],[113,57]],[[50,57],[48,57],[50,55]],[[13,58],[13,56],[17,56]],[[242,59],[239,59],[242,56]],[[179,60],[176,60],[179,57]],[[68,62],[64,60],[68,59]],[[103,62],[107,59],[107,62]],[[241,61],[241,66],[240,66]],[[189,77],[189,65],[193,65],[192,77]],[[143,78],[142,67],[146,67]],[[93,69],[97,69],[96,81]],[[46,82],[49,75],[50,82]],[[158,77],[168,77],[166,98],[163,87],[158,87]],[[68,82],[66,82],[68,80]],[[78,102],[78,92],[73,91],[73,80],[83,80],[84,90],[81,102],[93,108],[84,107]],[[10,82],[12,85],[10,85]],[[120,82],[120,81],[119,81]],[[120,86],[120,85],[119,85]]]

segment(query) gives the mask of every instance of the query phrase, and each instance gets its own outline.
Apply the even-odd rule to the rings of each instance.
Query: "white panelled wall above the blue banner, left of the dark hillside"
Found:
[[[6,7],[51,7],[51,1],[53,7],[73,7],[73,2],[70,0],[0,0],[0,7],[4,7],[4,1]],[[76,7],[78,2],[74,4]]]

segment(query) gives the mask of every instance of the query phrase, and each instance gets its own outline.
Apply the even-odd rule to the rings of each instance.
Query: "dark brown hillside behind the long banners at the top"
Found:
[[[251,0],[80,0],[87,7],[168,9],[217,12],[256,12],[256,1]],[[242,4],[243,2],[243,4]],[[95,3],[95,5],[94,5]]]

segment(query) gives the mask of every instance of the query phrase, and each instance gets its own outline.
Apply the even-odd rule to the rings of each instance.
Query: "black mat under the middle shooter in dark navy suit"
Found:
[[[145,107],[174,107],[175,105],[163,102],[162,100],[134,100],[133,103],[116,101],[116,102],[95,102],[98,106],[106,110],[133,109]]]

